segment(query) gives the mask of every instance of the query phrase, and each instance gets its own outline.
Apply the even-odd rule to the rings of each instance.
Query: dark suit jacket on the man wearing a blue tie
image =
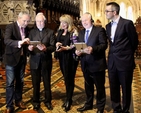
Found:
[[[79,32],[78,41],[84,42],[85,29]],[[93,26],[92,31],[89,35],[87,46],[93,48],[93,52],[84,54],[81,56],[82,71],[85,72],[98,72],[104,71],[106,66],[105,50],[107,48],[107,36],[105,29],[102,27]]]

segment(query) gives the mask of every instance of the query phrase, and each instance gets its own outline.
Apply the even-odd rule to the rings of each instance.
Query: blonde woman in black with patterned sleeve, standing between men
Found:
[[[74,59],[75,47],[73,43],[77,42],[77,36],[78,31],[73,24],[72,17],[67,14],[62,15],[56,37],[56,52],[66,86],[66,101],[62,105],[65,111],[69,111],[72,105],[74,77],[78,65],[78,61]]]

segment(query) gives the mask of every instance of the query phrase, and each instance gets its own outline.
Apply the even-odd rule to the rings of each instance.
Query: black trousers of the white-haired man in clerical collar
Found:
[[[33,105],[40,104],[40,82],[41,77],[44,84],[45,101],[44,103],[51,103],[51,69],[31,69],[32,84],[33,84]]]

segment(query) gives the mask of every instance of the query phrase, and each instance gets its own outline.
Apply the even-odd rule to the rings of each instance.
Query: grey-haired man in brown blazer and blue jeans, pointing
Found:
[[[15,105],[24,109],[22,90],[26,65],[26,50],[29,44],[27,25],[30,16],[27,12],[20,12],[17,22],[7,25],[5,31],[4,63],[6,69],[6,110],[5,113],[14,112]],[[22,30],[21,30],[22,29]],[[14,86],[15,84],[15,86]]]

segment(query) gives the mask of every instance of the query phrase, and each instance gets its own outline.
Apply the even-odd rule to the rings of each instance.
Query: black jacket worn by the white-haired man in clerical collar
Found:
[[[55,51],[55,35],[53,30],[44,28],[42,30],[42,36],[40,36],[40,31],[38,28],[34,28],[29,33],[29,38],[31,41],[41,41],[47,48],[46,51],[42,52],[35,48],[30,52],[30,67],[31,69],[37,69],[40,62],[42,67],[48,68],[52,66],[52,52]]]

